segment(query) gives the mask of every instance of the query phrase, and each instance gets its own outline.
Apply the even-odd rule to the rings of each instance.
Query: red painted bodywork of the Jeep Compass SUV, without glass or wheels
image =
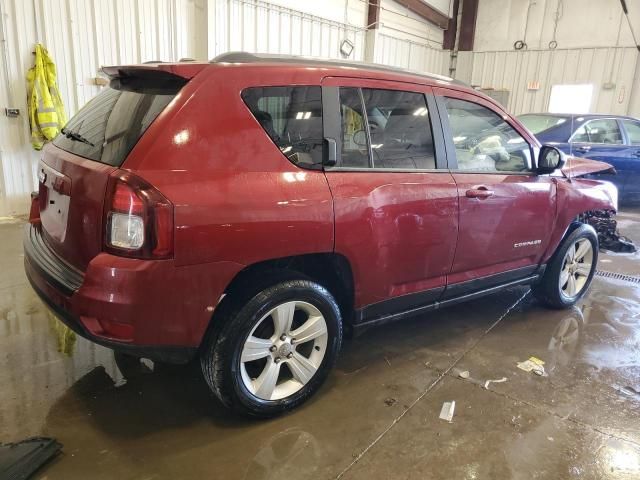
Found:
[[[41,217],[50,247],[84,272],[84,281],[65,296],[27,261],[29,277],[97,337],[197,346],[238,272],[282,257],[343,255],[354,275],[356,308],[537,264],[549,258],[577,214],[612,205],[606,189],[589,180],[304,170],[282,155],[240,96],[250,86],[319,86],[328,77],[336,85],[425,93],[445,84],[508,118],[539,148],[495,102],[464,86],[402,72],[304,64],[140,68],[191,78],[122,166],[173,204],[173,258],[104,253],[105,190],[114,168],[53,146],[46,147],[43,162],[62,180],[57,191],[45,182],[39,211],[32,212],[33,222]],[[359,80],[344,78],[354,76]],[[467,188],[481,184],[496,195],[466,198]],[[66,212],[57,213],[65,202]],[[531,239],[541,239],[539,247],[513,248]]]

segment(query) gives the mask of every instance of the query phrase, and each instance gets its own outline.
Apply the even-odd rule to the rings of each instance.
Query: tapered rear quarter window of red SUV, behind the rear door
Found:
[[[304,168],[322,167],[320,87],[253,87],[243,90],[242,99],[291,162]]]

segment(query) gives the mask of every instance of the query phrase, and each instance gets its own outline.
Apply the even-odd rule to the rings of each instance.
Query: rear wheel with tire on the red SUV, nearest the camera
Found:
[[[201,354],[204,377],[239,413],[273,417],[313,395],[342,343],[340,309],[309,280],[288,280],[228,309]]]

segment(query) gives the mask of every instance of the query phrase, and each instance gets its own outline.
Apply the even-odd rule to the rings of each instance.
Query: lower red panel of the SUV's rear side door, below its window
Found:
[[[450,174],[328,172],[336,252],[351,262],[355,305],[445,285],[458,231]]]

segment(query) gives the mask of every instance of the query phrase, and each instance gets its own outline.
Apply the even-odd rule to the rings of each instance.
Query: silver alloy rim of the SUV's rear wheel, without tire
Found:
[[[261,400],[280,400],[313,378],[327,349],[327,323],[302,301],[277,305],[253,327],[242,347],[244,386]]]

